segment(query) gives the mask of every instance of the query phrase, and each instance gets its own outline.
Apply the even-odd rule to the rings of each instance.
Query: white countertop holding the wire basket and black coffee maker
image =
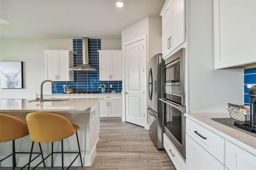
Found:
[[[256,137],[211,120],[211,118],[230,117],[228,113],[187,113],[185,116],[256,155]]]

